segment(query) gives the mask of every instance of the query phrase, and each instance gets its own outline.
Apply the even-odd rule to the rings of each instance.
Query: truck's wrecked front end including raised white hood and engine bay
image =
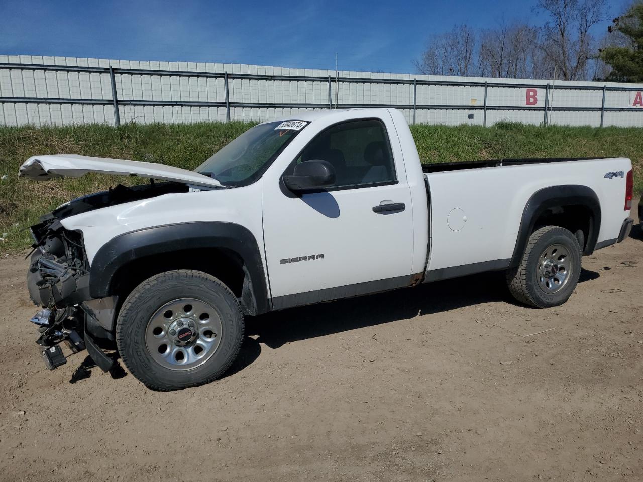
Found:
[[[61,343],[67,344],[72,352],[86,347],[92,359],[105,371],[113,366],[111,359],[98,348],[98,343],[106,341],[112,343],[110,348],[113,348],[118,298],[92,298],[83,235],[66,229],[66,219],[163,195],[224,188],[210,175],[181,168],[75,154],[32,156],[20,166],[18,175],[44,181],[54,177],[80,177],[91,172],[129,175],[149,179],[150,183],[118,184],[107,191],[79,197],[62,204],[32,226],[34,250],[27,285],[33,302],[43,308],[32,321],[39,326],[38,343],[46,348],[43,356],[52,369],[66,361],[60,350]],[[79,339],[82,343],[78,343]]]

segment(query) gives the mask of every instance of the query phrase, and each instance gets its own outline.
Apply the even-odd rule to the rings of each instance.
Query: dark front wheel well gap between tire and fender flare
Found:
[[[243,261],[228,249],[197,248],[143,256],[121,266],[114,273],[111,292],[122,303],[132,290],[154,274],[173,269],[194,269],[212,274],[239,298],[244,310],[248,280]]]

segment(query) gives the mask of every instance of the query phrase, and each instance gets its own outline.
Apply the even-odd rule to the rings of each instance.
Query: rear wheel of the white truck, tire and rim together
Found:
[[[536,308],[562,305],[581,274],[581,247],[567,229],[545,226],[535,231],[518,267],[507,270],[507,285],[521,303]]]

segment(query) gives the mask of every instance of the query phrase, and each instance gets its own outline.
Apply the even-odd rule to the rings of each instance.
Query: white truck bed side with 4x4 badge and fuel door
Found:
[[[520,168],[509,167],[512,165]],[[498,168],[502,166],[507,168]],[[552,198],[584,196],[587,206],[600,205],[598,233],[593,232],[599,245],[619,237],[629,215],[624,209],[625,173],[631,162],[624,157],[489,159],[422,168],[430,189],[427,271],[438,274],[464,265],[485,269],[497,269],[496,262],[509,265],[527,204],[539,192]]]

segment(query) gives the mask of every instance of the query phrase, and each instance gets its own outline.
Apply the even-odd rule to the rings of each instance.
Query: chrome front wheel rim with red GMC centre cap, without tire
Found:
[[[170,370],[190,370],[206,362],[221,343],[221,319],[209,303],[181,298],[165,303],[145,328],[152,359]]]

